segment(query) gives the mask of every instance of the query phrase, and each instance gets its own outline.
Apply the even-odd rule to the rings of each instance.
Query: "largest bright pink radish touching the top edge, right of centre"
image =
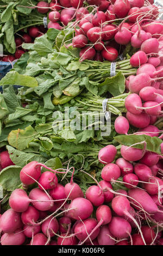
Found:
[[[124,18],[130,9],[130,3],[128,0],[116,0],[112,9],[118,18]]]

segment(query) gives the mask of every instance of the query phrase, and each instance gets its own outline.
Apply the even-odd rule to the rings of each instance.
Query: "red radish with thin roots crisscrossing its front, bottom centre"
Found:
[[[98,222],[95,218],[87,218],[87,220],[84,220],[83,222],[80,221],[76,225],[74,233],[80,241],[89,242],[90,239],[94,240],[99,234],[99,227],[96,228],[97,224]],[[93,229],[95,229],[95,231],[92,233]],[[90,235],[90,239],[87,238],[88,235]]]

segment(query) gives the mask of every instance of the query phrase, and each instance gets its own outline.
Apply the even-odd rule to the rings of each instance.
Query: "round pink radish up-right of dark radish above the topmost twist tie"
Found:
[[[120,45],[127,45],[131,40],[131,32],[126,28],[121,28],[115,35],[115,41]]]

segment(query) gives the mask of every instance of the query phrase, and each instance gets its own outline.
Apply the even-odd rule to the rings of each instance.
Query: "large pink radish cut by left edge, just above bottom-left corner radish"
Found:
[[[22,226],[21,214],[9,209],[0,218],[0,230],[3,233],[12,233]]]

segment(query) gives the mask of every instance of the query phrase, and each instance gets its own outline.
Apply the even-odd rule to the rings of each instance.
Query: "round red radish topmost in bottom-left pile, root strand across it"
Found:
[[[26,164],[26,166],[24,166],[21,169],[20,179],[23,184],[30,185],[30,184],[35,183],[35,180],[39,179],[39,177],[41,175],[41,167],[38,166],[37,163],[38,162],[36,162],[36,161],[32,161],[32,162]]]

